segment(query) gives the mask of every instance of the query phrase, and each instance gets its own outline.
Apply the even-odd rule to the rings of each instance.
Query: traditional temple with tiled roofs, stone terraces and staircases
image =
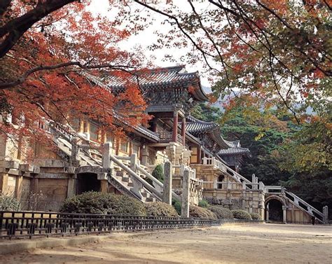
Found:
[[[94,85],[115,92],[125,89],[126,82],[111,74],[81,74]],[[189,73],[184,66],[167,67],[137,78],[147,102],[146,113],[153,116],[148,127],[132,126],[126,139],[113,139],[99,133],[95,120],[78,120],[71,134],[46,120],[43,127],[53,134],[57,148],[46,151],[39,144],[29,163],[2,134],[1,192],[13,193],[24,209],[28,209],[29,193],[43,193],[46,202],[38,209],[47,211],[56,211],[67,197],[88,190],[122,193],[141,202],[170,202],[170,196],[184,201],[187,173],[190,204],[204,198],[258,213],[266,221],[310,223],[312,215],[327,221],[327,209],[321,213],[281,186],[265,186],[255,175],[246,179],[240,174],[249,149],[242,148],[240,141],[224,139],[219,125],[191,116],[193,106],[208,99],[198,72]],[[120,113],[114,115],[116,125],[128,126]],[[171,182],[161,183],[151,172],[166,163],[171,166]],[[171,193],[168,200],[165,184]]]

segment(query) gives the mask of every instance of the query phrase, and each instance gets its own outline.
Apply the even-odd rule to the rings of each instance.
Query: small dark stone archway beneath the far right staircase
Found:
[[[265,221],[286,223],[286,201],[278,195],[270,195],[265,200]]]

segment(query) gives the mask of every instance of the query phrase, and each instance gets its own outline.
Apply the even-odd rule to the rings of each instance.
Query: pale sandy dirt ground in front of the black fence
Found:
[[[1,263],[332,263],[332,226],[224,225],[0,256]]]

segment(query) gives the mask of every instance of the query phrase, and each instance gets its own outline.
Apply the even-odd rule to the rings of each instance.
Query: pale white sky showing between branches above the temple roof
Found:
[[[162,2],[162,0],[160,0]],[[165,0],[164,0],[165,1]],[[201,8],[207,8],[209,4],[206,1],[194,1],[195,7],[197,10],[201,10]],[[137,4],[131,3],[132,6],[138,7],[140,9],[139,15],[146,16],[149,11],[146,8],[141,7]],[[177,6],[181,11],[191,10],[191,7],[187,3],[186,0],[177,0],[174,1],[174,5]],[[164,3],[155,5],[158,8],[165,7]],[[110,8],[109,0],[92,0],[90,8],[93,12],[99,13],[101,15],[106,15],[107,18],[112,20],[117,13],[115,8]],[[162,48],[160,50],[148,50],[148,46],[155,43],[158,40],[158,36],[155,34],[156,31],[166,33],[171,26],[162,25],[162,21],[165,19],[162,15],[158,13],[151,13],[153,15],[153,25],[149,25],[144,29],[144,31],[139,32],[137,35],[130,36],[127,41],[123,41],[122,47],[125,50],[135,50],[138,46],[140,46],[144,50],[144,54],[148,58],[153,58],[153,64],[156,67],[170,67],[177,64],[184,64],[181,62],[181,56],[185,55],[188,52],[191,52],[191,48]],[[172,59],[174,61],[170,61],[170,59],[166,59],[166,54],[172,55]],[[195,64],[186,64],[186,70],[191,71],[199,71],[201,83],[204,87],[207,88],[207,91],[210,92],[209,87],[211,87],[211,83],[207,78],[207,74],[205,74],[205,70],[203,69],[202,62],[198,62]]]

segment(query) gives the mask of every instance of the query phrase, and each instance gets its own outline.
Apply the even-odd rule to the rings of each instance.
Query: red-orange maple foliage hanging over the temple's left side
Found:
[[[2,16],[0,32],[48,2],[11,1]],[[54,120],[69,134],[77,119],[95,120],[103,132],[116,134],[122,129],[115,125],[114,113],[130,125],[146,122],[146,104],[132,81],[132,70],[141,67],[141,55],[119,48],[130,32],[92,14],[89,4],[75,1],[46,15],[0,59],[1,132],[13,139],[26,136],[44,141],[45,120]],[[3,37],[3,43],[8,36]],[[100,80],[116,76],[127,88],[114,93],[87,74]]]

